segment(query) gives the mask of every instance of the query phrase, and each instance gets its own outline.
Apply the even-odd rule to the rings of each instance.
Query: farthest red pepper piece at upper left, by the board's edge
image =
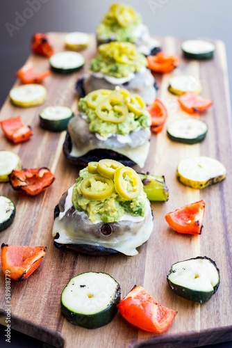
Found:
[[[33,52],[45,57],[51,57],[54,54],[48,36],[43,33],[35,33],[33,35],[31,49]]]

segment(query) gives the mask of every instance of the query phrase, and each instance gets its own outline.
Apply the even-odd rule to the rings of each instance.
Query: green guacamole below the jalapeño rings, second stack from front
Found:
[[[101,120],[97,116],[96,109],[88,107],[87,100],[88,95],[79,100],[78,111],[87,116],[86,121],[89,123],[90,132],[98,133],[104,139],[107,139],[109,134],[121,134],[126,136],[140,127],[149,128],[151,126],[151,116],[146,109],[142,111],[140,116],[136,116],[133,112],[128,112],[124,122],[113,123]]]

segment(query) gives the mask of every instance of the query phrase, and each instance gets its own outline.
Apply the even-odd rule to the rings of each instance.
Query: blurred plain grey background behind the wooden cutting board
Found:
[[[27,10],[32,8],[29,4],[33,6],[33,1],[36,10]],[[48,31],[93,33],[110,3],[113,2],[116,0],[0,0],[0,106],[15,82],[15,72],[24,65],[30,54],[33,33]],[[141,13],[144,24],[147,24],[151,35],[155,37],[168,35],[184,39],[223,40],[226,45],[229,84],[232,86],[232,1],[124,0],[124,2]],[[231,306],[230,299],[228,301]],[[3,331],[4,327],[0,326],[2,348],[49,348],[48,345],[15,331],[11,332],[11,343],[8,344],[5,342]],[[232,347],[232,342],[210,347],[229,348]]]

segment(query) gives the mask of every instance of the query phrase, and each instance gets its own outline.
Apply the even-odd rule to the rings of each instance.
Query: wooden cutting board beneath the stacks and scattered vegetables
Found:
[[[50,33],[56,52],[63,51],[65,33]],[[30,141],[12,145],[0,134],[1,149],[13,150],[22,159],[24,168],[47,166],[56,175],[56,181],[35,197],[20,196],[10,184],[0,184],[1,195],[8,196],[16,205],[15,221],[1,232],[1,243],[30,246],[47,246],[47,255],[40,267],[27,280],[11,282],[11,328],[38,338],[55,347],[197,347],[232,340],[231,269],[232,269],[232,214],[231,214],[231,118],[226,54],[223,42],[216,45],[215,57],[210,61],[190,61],[181,56],[181,40],[159,38],[163,50],[181,57],[173,73],[155,75],[158,97],[169,111],[168,122],[187,114],[179,108],[176,96],[167,91],[169,78],[174,74],[192,74],[199,77],[203,86],[201,95],[213,100],[213,107],[200,116],[208,124],[203,143],[184,145],[167,139],[165,129],[152,135],[149,158],[144,171],[165,175],[169,187],[166,203],[152,203],[154,231],[149,241],[133,257],[111,255],[90,257],[72,251],[59,251],[53,246],[51,229],[53,209],[60,196],[74,184],[78,168],[69,164],[63,155],[65,132],[44,131],[39,125],[39,111],[44,106],[72,106],[76,113],[76,79],[88,72],[90,58],[96,53],[94,36],[88,49],[82,53],[86,64],[78,73],[63,76],[51,74],[44,80],[47,101],[38,107],[20,109],[9,100],[3,105],[0,119],[20,115],[26,125],[33,128]],[[35,68],[49,67],[47,58],[31,55],[28,58]],[[19,82],[17,81],[15,86]],[[190,116],[189,116],[190,117]],[[185,187],[176,179],[179,161],[192,155],[214,157],[227,168],[226,180],[203,190]],[[206,214],[201,235],[179,235],[170,230],[165,214],[177,207],[204,199]],[[166,276],[171,265],[196,256],[208,256],[217,263],[221,284],[210,301],[192,303],[174,295],[167,285]],[[133,285],[142,285],[164,306],[178,311],[168,331],[161,335],[140,331],[117,313],[110,324],[88,330],[67,322],[60,314],[60,294],[68,280],[85,271],[103,271],[115,278],[125,296]],[[6,325],[5,276],[1,276],[0,316]]]

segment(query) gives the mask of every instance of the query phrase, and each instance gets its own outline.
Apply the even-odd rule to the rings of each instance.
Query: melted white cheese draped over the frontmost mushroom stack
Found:
[[[72,205],[72,189],[67,191],[64,211],[60,212],[53,223],[52,235],[59,234],[56,242],[59,244],[87,244],[111,248],[125,255],[137,255],[136,248],[147,242],[153,230],[153,217],[149,200],[145,209],[145,216],[128,216],[125,214],[110,236],[102,235],[100,227],[103,222],[91,223],[85,212],[78,212]],[[79,221],[79,222],[78,222]],[[86,221],[86,228],[85,228]]]

